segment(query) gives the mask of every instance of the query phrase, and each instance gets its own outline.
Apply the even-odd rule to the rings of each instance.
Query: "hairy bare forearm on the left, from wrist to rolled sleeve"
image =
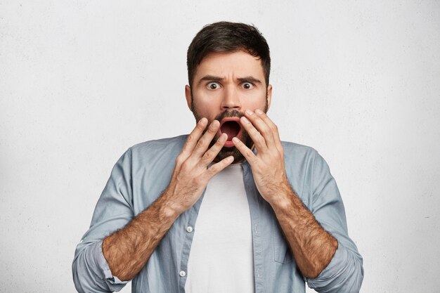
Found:
[[[105,237],[103,254],[119,280],[131,280],[141,271],[179,213],[169,204],[167,190],[127,226]]]

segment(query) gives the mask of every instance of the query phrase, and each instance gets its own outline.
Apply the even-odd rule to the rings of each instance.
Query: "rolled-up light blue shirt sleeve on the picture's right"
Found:
[[[313,163],[312,180],[311,212],[321,226],[337,239],[338,247],[317,278],[306,278],[307,284],[317,292],[359,292],[363,280],[362,256],[348,235],[344,204],[335,179],[318,153]]]

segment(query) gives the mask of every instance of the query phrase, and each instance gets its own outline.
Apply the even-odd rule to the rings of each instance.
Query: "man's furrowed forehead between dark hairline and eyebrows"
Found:
[[[264,81],[264,71],[261,60],[244,51],[209,53],[197,67],[194,80],[197,81],[205,75],[217,77],[252,76]]]

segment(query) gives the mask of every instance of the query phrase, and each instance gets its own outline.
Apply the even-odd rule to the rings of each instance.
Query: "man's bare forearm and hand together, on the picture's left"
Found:
[[[209,179],[233,162],[233,157],[226,157],[207,169],[226,141],[223,134],[207,150],[219,124],[214,120],[203,134],[207,119],[200,119],[176,159],[164,193],[127,226],[103,240],[103,255],[119,280],[131,280],[141,271],[177,217],[202,195]]]

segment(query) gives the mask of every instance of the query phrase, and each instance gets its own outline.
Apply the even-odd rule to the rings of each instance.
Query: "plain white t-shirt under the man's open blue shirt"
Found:
[[[208,183],[193,230],[187,293],[253,293],[250,210],[242,167],[235,164]]]

